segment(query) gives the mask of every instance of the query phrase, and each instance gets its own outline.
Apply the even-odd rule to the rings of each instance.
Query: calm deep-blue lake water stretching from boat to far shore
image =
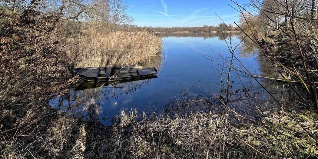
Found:
[[[72,90],[67,96],[52,99],[50,104],[83,117],[87,115],[90,105],[94,105],[100,122],[110,125],[112,116],[116,116],[120,110],[135,108],[137,112],[162,113],[167,104],[180,98],[189,88],[188,93],[193,96],[202,94],[211,97],[219,93],[221,78],[218,70],[222,70],[220,65],[224,65],[224,60],[217,53],[224,57],[231,56],[222,34],[162,34],[162,37],[162,56],[142,64],[156,67],[158,78],[122,83],[116,85],[117,88],[109,86]],[[232,39],[235,39],[235,45],[240,41],[238,35]],[[256,48],[245,43],[235,55],[252,73],[262,74]],[[234,65],[237,65],[237,61],[234,61]],[[234,81],[234,87],[240,87],[235,74],[231,80]],[[243,82],[248,80],[244,79]]]

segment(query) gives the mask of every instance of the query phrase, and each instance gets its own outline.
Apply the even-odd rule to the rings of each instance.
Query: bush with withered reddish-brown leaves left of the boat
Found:
[[[13,110],[41,101],[43,94],[58,90],[52,84],[63,84],[71,75],[63,41],[54,38],[55,18],[39,15],[34,7],[21,14],[2,13],[9,22],[1,27],[0,101],[2,107]]]

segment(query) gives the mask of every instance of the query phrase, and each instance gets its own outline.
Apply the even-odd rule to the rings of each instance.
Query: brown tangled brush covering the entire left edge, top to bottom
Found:
[[[68,71],[72,61],[63,49],[63,39],[57,38],[59,16],[42,14],[38,1],[16,4],[12,12],[0,11],[0,156],[38,158],[39,153],[52,153],[55,144],[65,142],[52,135],[58,131],[53,125],[63,127],[71,120],[63,121],[64,113],[47,103],[52,94],[63,93],[77,77],[72,78]],[[61,122],[51,123],[54,120]],[[46,140],[51,135],[52,140]],[[39,150],[44,143],[46,147]],[[54,148],[46,151],[51,146]]]

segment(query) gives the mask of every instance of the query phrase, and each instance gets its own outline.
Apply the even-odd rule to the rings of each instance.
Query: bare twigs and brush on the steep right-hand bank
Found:
[[[266,0],[251,1],[248,6],[235,4],[241,13],[242,25],[238,26],[245,36],[261,49],[279,78],[294,90],[297,102],[317,111],[317,2]],[[259,40],[259,32],[264,32],[266,38]]]

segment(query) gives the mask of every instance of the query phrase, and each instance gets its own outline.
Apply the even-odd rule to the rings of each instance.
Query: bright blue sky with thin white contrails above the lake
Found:
[[[138,26],[190,27],[218,25],[221,20],[233,24],[239,13],[230,7],[230,0],[126,0],[128,14]],[[237,0],[239,4],[249,0]]]

